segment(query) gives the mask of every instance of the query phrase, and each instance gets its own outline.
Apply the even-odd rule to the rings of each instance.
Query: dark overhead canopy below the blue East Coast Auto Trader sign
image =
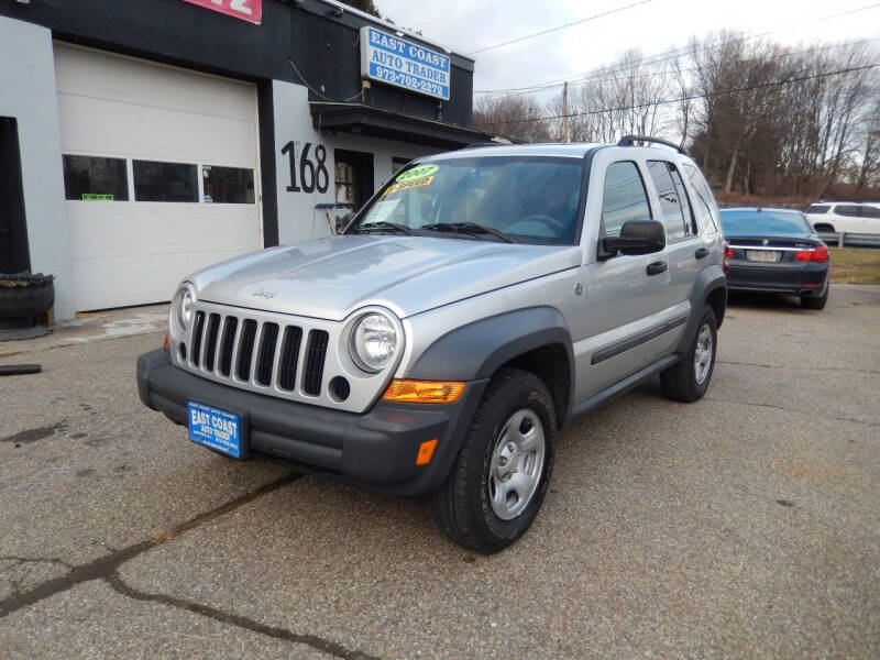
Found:
[[[319,131],[336,130],[441,148],[492,142],[492,134],[363,103],[311,101],[311,122]]]

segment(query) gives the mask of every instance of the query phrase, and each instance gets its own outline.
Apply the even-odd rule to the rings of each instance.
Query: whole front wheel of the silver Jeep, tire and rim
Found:
[[[531,525],[553,465],[556,411],[543,382],[504,370],[490,383],[447,481],[431,497],[440,529],[482,554]]]

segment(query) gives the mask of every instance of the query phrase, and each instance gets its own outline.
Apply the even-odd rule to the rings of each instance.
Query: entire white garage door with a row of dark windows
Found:
[[[55,72],[78,310],[261,248],[254,85],[58,42]]]

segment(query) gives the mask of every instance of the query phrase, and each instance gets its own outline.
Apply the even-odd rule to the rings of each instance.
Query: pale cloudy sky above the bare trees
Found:
[[[527,87],[576,78],[613,64],[626,51],[654,55],[718,30],[811,46],[864,38],[880,62],[880,2],[849,0],[374,0],[384,16],[429,42],[476,59],[475,90]],[[850,12],[827,18],[832,14]],[[603,15],[515,44],[486,46]],[[475,95],[479,99],[480,95]],[[543,99],[542,99],[543,100]]]

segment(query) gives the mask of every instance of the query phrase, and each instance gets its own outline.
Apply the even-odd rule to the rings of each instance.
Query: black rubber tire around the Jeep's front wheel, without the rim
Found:
[[[542,472],[528,504],[506,520],[493,510],[490,469],[505,424],[522,410],[534,413],[542,426]],[[498,552],[521,537],[541,507],[550,483],[556,428],[553,402],[543,382],[526,371],[499,371],[474,413],[449,476],[431,496],[431,513],[438,527],[460,546],[482,554]]]

